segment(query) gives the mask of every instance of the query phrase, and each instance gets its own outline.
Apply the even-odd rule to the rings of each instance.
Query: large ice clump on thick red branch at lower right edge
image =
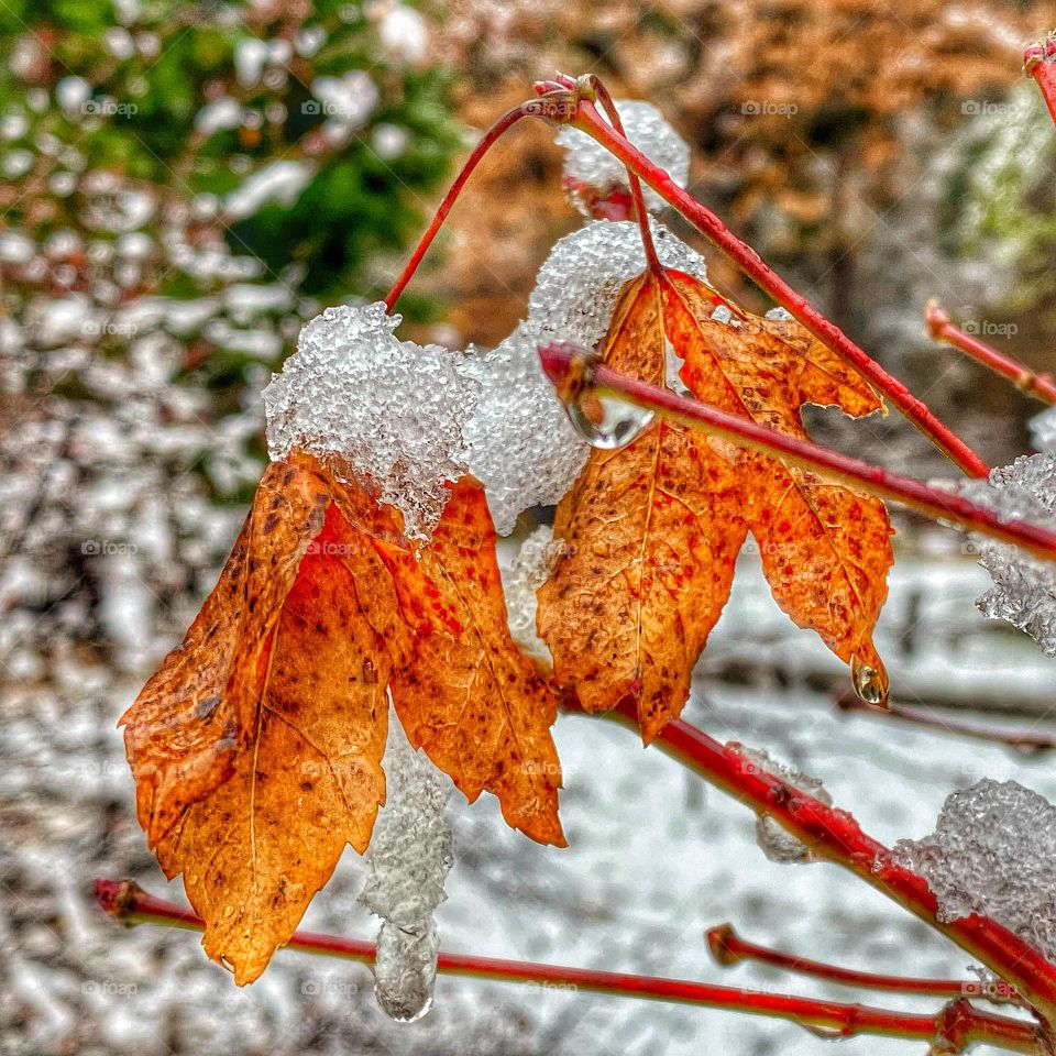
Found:
[[[990,916],[1056,961],[1056,806],[1044,796],[979,781],[946,799],[931,836],[892,854],[927,880],[939,921]]]

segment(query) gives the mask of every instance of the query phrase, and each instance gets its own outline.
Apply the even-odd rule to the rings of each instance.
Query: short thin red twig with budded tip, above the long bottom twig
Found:
[[[750,943],[734,931],[733,924],[718,924],[708,928],[706,937],[712,957],[724,967],[736,965],[740,960],[755,960],[845,987],[862,987],[868,990],[913,993],[948,1000],[981,997],[998,1004],[1020,1001],[1020,996],[1007,983],[986,987],[978,979],[914,979],[909,976],[884,976],[873,971],[858,971],[855,968],[827,965],[821,960],[809,960],[806,957],[798,957],[780,949]]]

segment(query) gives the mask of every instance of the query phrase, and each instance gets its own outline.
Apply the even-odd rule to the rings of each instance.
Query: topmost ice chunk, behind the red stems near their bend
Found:
[[[690,182],[690,147],[663,114],[648,102],[622,99],[616,103],[627,139],[680,186]],[[581,195],[576,188],[590,188],[600,198],[607,198],[614,190],[629,190],[627,169],[592,136],[569,125],[558,133],[557,142],[568,154],[562,175],[572,200],[584,212]],[[667,202],[651,188],[642,185],[646,208],[659,212]]]

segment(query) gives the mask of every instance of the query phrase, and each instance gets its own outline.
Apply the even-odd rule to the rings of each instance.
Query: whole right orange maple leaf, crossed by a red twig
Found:
[[[676,350],[698,399],[793,436],[806,435],[804,403],[880,409],[867,383],[791,320],[738,312],[724,323],[711,318],[718,304],[682,273],[639,276],[620,295],[603,358],[663,385]],[[558,507],[565,551],[539,591],[539,634],[583,707],[634,702],[648,743],[685,703],[749,531],[781,607],[843,660],[882,673],[871,630],[890,530],[877,499],[661,419],[626,448],[592,451]]]

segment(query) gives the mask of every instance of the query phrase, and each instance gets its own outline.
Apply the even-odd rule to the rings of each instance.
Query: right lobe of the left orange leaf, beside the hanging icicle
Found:
[[[393,650],[393,702],[408,739],[471,802],[493,792],[507,824],[565,846],[561,767],[550,736],[557,697],[510,637],[483,488],[471,477],[452,485],[417,558],[376,549],[395,602],[378,582],[375,618],[403,616],[403,629],[391,617],[378,629]]]

